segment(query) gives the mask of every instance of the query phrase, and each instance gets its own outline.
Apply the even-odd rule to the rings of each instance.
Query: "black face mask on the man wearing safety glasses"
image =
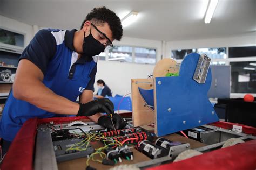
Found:
[[[84,32],[85,36],[85,32]],[[96,40],[90,30],[90,34],[87,37],[84,37],[84,43],[83,43],[83,54],[84,57],[92,57],[95,55],[99,55],[99,53],[104,52],[105,46],[103,44],[100,44],[98,40]]]

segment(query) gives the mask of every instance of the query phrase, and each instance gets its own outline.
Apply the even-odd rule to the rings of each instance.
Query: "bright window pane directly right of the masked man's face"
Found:
[[[113,46],[109,50],[109,61],[132,62],[132,47]]]

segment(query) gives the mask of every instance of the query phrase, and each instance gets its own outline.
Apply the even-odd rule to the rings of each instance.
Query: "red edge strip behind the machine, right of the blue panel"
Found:
[[[233,125],[238,125],[238,126],[242,126],[242,132],[256,136],[256,128],[252,126],[247,126],[239,123],[224,122],[224,121],[213,122],[213,123],[210,123],[209,125],[217,126],[224,129],[232,129]]]

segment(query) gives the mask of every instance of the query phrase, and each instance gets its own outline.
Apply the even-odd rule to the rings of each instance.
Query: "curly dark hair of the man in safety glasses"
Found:
[[[103,24],[105,22],[108,23],[113,34],[113,39],[118,41],[121,40],[123,36],[123,28],[120,18],[116,15],[116,13],[114,13],[114,11],[107,9],[105,6],[93,8],[93,10],[87,14],[81,25],[81,29],[87,20],[90,20],[94,24]]]

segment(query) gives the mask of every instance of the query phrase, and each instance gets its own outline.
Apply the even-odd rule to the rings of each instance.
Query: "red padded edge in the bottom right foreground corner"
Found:
[[[147,168],[147,170],[163,169],[255,169],[256,140],[247,141],[231,147],[204,153],[197,157],[179,162]]]

